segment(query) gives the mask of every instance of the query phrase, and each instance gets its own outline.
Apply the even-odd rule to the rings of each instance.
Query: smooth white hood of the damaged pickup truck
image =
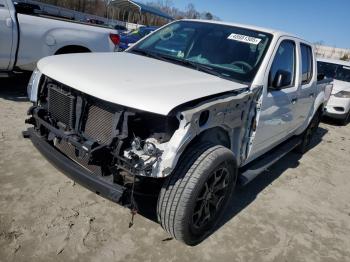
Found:
[[[186,102],[246,87],[130,53],[60,55],[38,62],[46,76],[111,103],[167,115]]]

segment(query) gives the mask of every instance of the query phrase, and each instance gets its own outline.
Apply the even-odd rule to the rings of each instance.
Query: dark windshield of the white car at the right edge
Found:
[[[350,66],[318,62],[317,67],[318,72],[324,74],[327,78],[350,82]]]

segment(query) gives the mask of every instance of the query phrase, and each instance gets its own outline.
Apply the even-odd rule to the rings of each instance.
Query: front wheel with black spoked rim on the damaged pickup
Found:
[[[191,147],[161,189],[159,223],[187,245],[200,243],[215,228],[236,180],[237,166],[229,149],[211,144]]]

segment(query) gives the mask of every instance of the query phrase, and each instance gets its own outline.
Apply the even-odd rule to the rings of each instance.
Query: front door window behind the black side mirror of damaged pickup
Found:
[[[294,84],[295,57],[295,42],[291,40],[283,41],[277,50],[270,69],[269,87],[281,89]]]

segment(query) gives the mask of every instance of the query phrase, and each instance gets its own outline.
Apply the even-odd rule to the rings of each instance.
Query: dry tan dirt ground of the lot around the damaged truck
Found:
[[[238,189],[222,226],[186,247],[76,185],[24,140],[24,80],[0,79],[0,261],[350,261],[350,124],[321,124]]]

